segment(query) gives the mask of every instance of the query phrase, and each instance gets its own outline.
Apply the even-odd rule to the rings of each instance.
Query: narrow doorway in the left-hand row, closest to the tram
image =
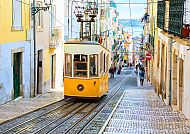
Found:
[[[51,56],[51,88],[55,89],[56,54]]]

